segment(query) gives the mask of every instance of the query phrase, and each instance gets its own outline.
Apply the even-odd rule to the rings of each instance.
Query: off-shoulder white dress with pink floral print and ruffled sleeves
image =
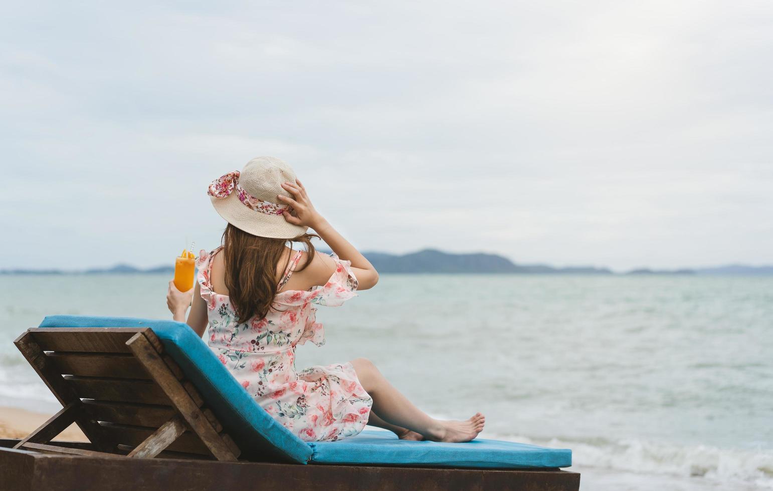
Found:
[[[317,346],[325,343],[322,324],[315,320],[315,306],[339,306],[356,296],[351,262],[333,255],[335,273],[324,286],[281,291],[266,317],[237,323],[229,297],[215,293],[209,280],[212,259],[221,249],[201,251],[197,263],[209,317],[209,348],[257,403],[301,440],[340,440],[363,431],[373,400],[351,363],[295,369],[298,344],[308,340]],[[298,252],[278,289],[287,283],[300,259]]]

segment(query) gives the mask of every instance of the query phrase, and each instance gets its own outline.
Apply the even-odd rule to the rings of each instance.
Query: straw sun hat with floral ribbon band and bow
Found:
[[[277,195],[292,197],[283,182],[295,183],[295,171],[274,157],[255,157],[241,172],[233,171],[209,185],[207,194],[216,212],[237,229],[271,239],[294,239],[306,227],[293,225],[282,213],[292,211]]]

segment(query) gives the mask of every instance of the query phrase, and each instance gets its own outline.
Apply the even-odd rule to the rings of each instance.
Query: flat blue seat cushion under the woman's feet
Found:
[[[338,442],[310,442],[312,463],[499,469],[572,465],[572,451],[526,443],[475,439],[466,443],[410,442],[392,432],[364,431]]]

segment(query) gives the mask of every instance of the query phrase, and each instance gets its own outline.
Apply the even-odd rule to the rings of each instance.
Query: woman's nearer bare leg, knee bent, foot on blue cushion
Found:
[[[478,413],[465,421],[440,421],[417,408],[384,378],[365,358],[352,360],[359,383],[373,398],[377,418],[399,428],[407,428],[436,442],[469,442],[482,432],[485,417]]]

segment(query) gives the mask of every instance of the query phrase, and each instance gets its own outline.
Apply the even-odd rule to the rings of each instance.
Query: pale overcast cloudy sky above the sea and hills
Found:
[[[773,263],[770,2],[14,2],[0,269],[172,264],[287,161],[362,250]]]

